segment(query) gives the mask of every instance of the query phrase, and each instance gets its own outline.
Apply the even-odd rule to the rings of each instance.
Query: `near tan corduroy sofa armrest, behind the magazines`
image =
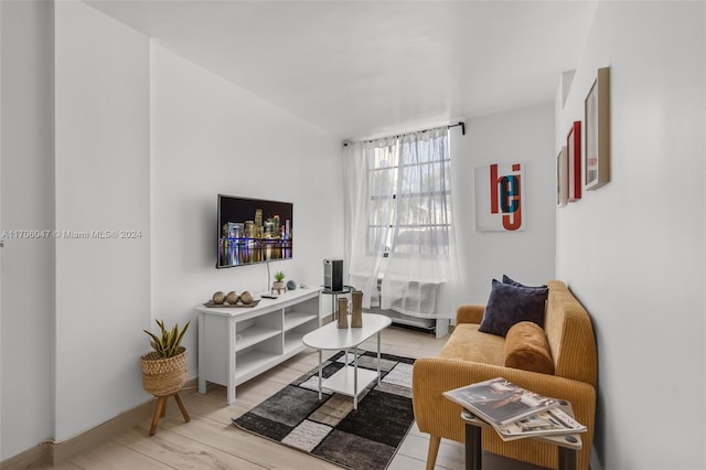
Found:
[[[463,442],[464,428],[460,418],[462,408],[446,398],[442,393],[494,377],[504,377],[544,396],[568,400],[576,420],[587,427],[587,432],[581,434],[584,449],[579,451],[579,468],[588,468],[593,439],[596,391],[590,384],[570,378],[475,362],[440,357],[418,359],[413,368],[411,382],[414,413],[419,430]],[[483,437],[483,448],[486,450],[492,448],[488,449],[485,442],[492,446],[493,438],[496,437],[491,434]],[[504,445],[500,438],[494,440],[498,446]]]

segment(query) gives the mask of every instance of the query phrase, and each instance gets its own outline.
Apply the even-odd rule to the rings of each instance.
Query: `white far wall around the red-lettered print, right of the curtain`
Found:
[[[491,279],[503,274],[528,285],[555,277],[554,108],[475,117],[466,120],[466,136],[451,131],[453,216],[464,270],[459,303],[484,305]],[[474,168],[516,161],[524,163],[525,231],[477,232]]]

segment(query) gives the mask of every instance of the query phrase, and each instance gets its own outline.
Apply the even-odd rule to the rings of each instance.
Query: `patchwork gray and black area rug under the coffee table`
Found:
[[[352,360],[343,351],[323,364],[329,377]],[[353,398],[323,389],[319,368],[308,372],[233,424],[260,437],[293,447],[352,470],[385,469],[414,423],[414,359],[381,355],[381,384]],[[377,353],[359,350],[359,367],[377,371]]]

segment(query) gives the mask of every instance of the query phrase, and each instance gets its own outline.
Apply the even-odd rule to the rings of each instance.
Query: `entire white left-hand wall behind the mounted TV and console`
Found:
[[[340,141],[90,7],[0,8],[0,228],[140,233],[2,248],[7,460],[147,402],[153,319],[183,324],[214,290],[267,288],[265,265],[215,269],[216,194],[291,201],[295,258],[271,269],[318,285],[343,255],[343,192]]]

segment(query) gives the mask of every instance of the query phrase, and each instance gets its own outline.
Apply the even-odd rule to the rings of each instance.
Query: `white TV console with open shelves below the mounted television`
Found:
[[[231,405],[237,385],[303,351],[303,335],[321,327],[321,290],[288,290],[249,308],[196,307],[199,392],[224,385]]]

